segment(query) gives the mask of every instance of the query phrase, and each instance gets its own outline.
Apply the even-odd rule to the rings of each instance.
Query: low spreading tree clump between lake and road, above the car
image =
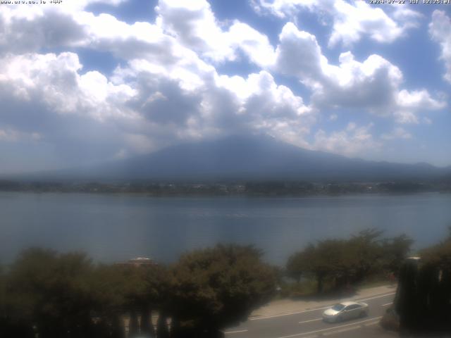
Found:
[[[326,239],[294,253],[286,265],[287,274],[299,282],[314,277],[317,292],[324,283],[335,289],[350,287],[373,274],[394,273],[410,251],[412,240],[405,235],[381,239],[378,230],[364,230],[350,239]]]

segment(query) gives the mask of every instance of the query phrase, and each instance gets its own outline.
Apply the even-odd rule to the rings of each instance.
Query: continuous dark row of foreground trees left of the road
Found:
[[[0,337],[121,338],[125,318],[128,337],[221,337],[275,290],[253,246],[192,251],[172,266],[27,249],[0,271]]]

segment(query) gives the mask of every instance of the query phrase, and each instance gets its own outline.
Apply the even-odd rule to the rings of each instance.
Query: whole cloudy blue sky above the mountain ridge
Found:
[[[3,2],[0,173],[236,133],[451,165],[451,4]]]

